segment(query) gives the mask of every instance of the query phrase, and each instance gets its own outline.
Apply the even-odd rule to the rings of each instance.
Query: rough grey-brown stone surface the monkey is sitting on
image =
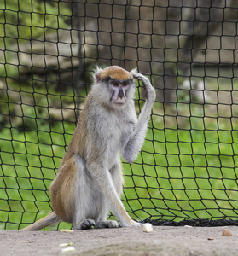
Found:
[[[223,236],[226,227],[142,227],[59,231],[0,230],[1,255],[61,255],[61,243],[73,243],[67,255],[236,255],[238,227]],[[65,253],[64,253],[65,254]]]

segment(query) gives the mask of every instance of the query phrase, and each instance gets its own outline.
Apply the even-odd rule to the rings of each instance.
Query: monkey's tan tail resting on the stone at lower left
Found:
[[[22,231],[26,230],[42,230],[45,227],[60,222],[61,219],[55,214],[55,212],[49,213],[49,215],[45,216],[44,218],[39,219],[35,223],[27,226],[26,228],[22,229]],[[21,231],[21,230],[20,230]]]

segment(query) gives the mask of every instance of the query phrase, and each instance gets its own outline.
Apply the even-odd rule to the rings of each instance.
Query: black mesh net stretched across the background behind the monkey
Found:
[[[124,163],[131,217],[236,224],[237,7],[225,0],[2,1],[0,229],[18,230],[52,211],[49,184],[96,64],[137,67],[157,90],[142,151]]]

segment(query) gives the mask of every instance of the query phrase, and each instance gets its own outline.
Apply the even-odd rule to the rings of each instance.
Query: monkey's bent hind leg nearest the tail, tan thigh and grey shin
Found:
[[[92,201],[93,183],[86,173],[85,160],[74,154],[61,165],[50,186],[52,206],[63,221],[73,224],[73,230],[89,229],[95,225],[96,206]]]

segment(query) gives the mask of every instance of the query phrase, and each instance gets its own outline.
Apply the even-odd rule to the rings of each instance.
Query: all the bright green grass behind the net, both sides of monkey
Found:
[[[153,114],[154,129],[148,129],[142,152],[132,165],[124,164],[123,201],[131,217],[236,218],[235,127],[230,130],[227,122],[219,130],[214,123],[207,123],[206,129],[175,129],[162,120],[165,117],[160,113]],[[18,229],[19,224],[31,223],[51,211],[49,184],[74,127],[58,122],[51,127],[44,124],[39,131],[2,129],[0,228]]]

